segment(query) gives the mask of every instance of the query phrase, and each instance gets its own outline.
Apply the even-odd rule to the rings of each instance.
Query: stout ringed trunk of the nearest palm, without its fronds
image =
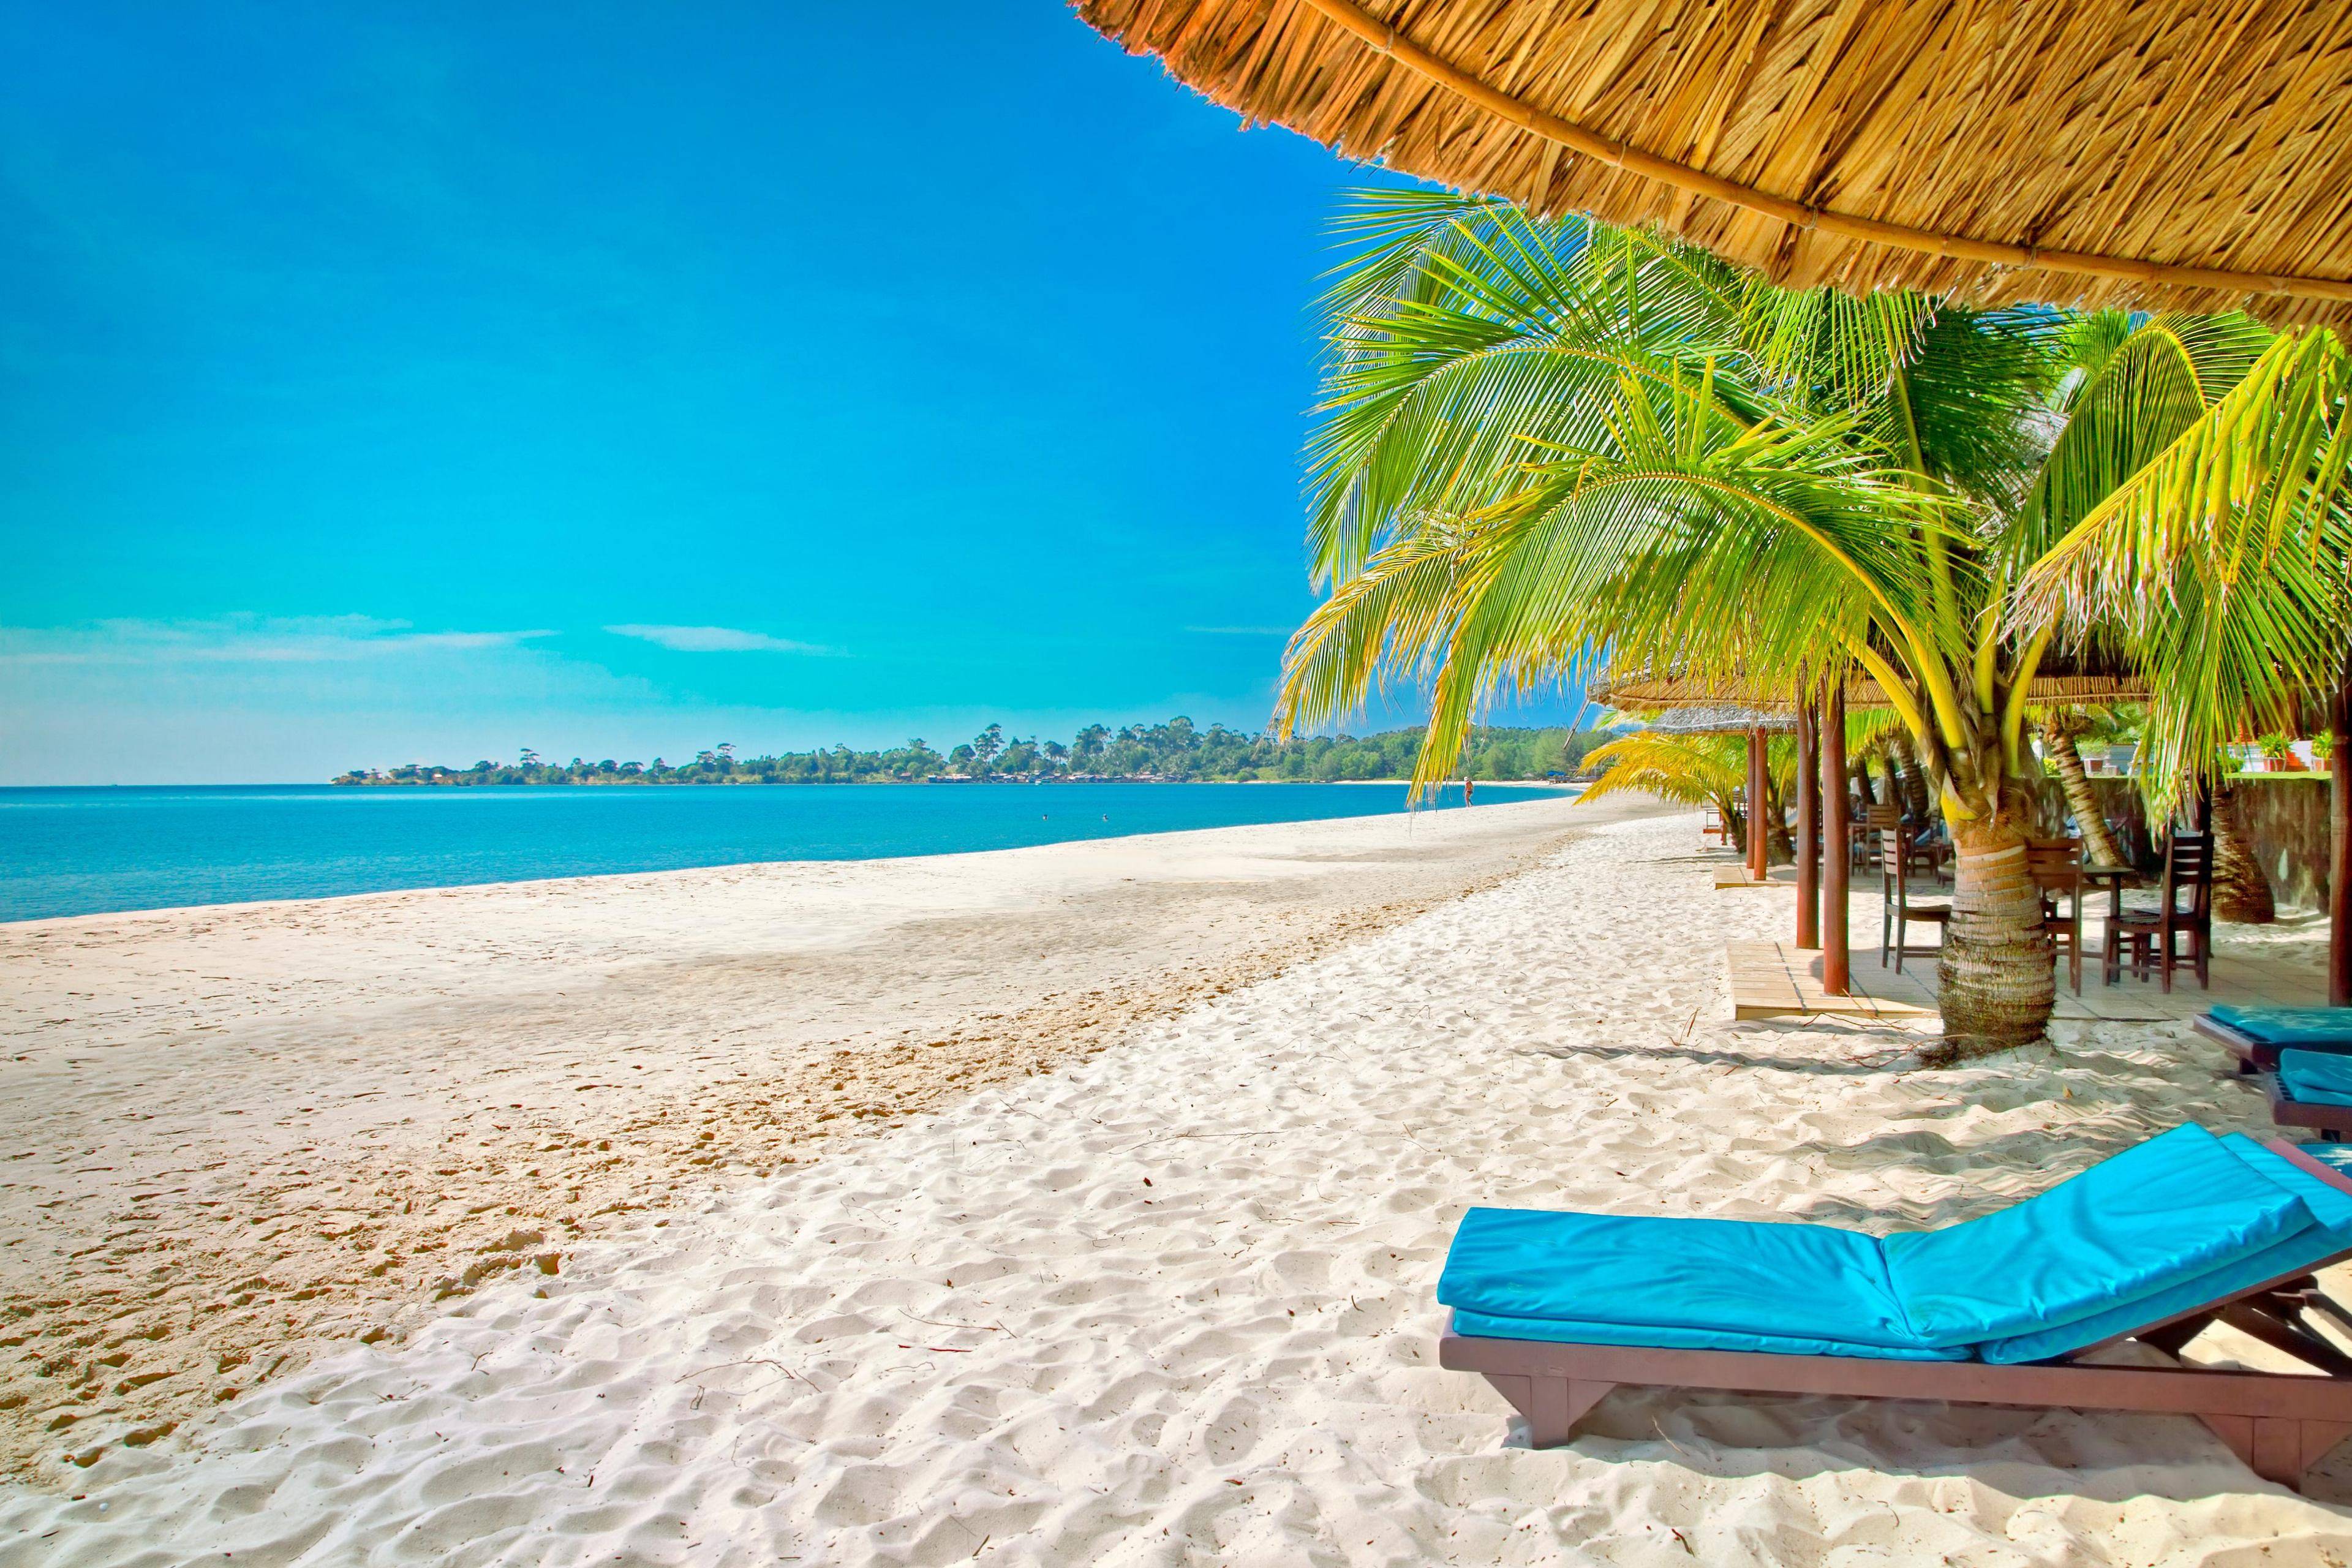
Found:
[[[1936,964],[1945,1056],[2027,1046],[2049,1027],[2058,966],[2025,875],[2025,820],[2020,809],[1952,823],[1952,929]]]

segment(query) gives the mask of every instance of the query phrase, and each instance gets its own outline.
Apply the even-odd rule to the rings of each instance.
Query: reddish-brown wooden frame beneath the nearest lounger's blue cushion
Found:
[[[2293,1145],[2270,1143],[2270,1147],[2319,1180],[2352,1192],[2352,1180]],[[2352,1251],[2312,1267],[2345,1258],[2352,1258]],[[2194,1366],[2086,1366],[2077,1361],[2098,1345],[2058,1361],[2027,1366],[1552,1345],[1548,1340],[1458,1335],[1451,1328],[1451,1316],[1446,1333],[1437,1340],[1437,1363],[1482,1373],[1526,1418],[1531,1448],[1566,1443],[1576,1422],[1609,1389],[1625,1382],[1743,1394],[1846,1394],[1856,1399],[1945,1399],[1985,1406],[2194,1415],[2265,1481],[2300,1486],[2305,1469],[2338,1441],[2352,1436],[2352,1356],[2310,1328],[2307,1319],[2328,1319],[2340,1333],[2352,1333],[2352,1314],[2321,1295],[2312,1269],[2298,1269],[2100,1345],[2138,1340],[2171,1356],[2209,1324],[2220,1321],[2296,1356],[2319,1375]]]

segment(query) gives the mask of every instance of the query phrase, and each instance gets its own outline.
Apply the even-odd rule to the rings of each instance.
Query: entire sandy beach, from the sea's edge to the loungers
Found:
[[[1369,823],[1014,851],[988,858],[1011,867],[988,898],[946,907],[953,867],[898,863],[5,933],[9,1103],[31,1107],[0,1166],[12,1307],[101,1244],[125,1253],[122,1291],[172,1267],[181,1241],[158,1237],[219,1246],[202,1204],[247,1201],[259,1232],[292,1204],[285,1225],[327,1237],[348,1201],[374,1218],[325,1253],[407,1237],[412,1258],[423,1232],[381,1213],[400,1182],[402,1201],[447,1187],[452,1208],[485,1206],[449,1220],[452,1253],[541,1229],[510,1253],[553,1253],[555,1272],[318,1319],[270,1295],[315,1356],[155,1441],[49,1436],[0,1490],[0,1566],[2352,1561],[2352,1509],[2331,1502],[2352,1497],[2352,1460],[2305,1500],[2185,1418],[1618,1392],[1571,1448],[1519,1446],[1496,1394],[1432,1363],[1432,1286],[1468,1204],[1933,1225],[2178,1121],[2251,1131],[2260,1100],[2178,1025],[1919,1070],[1898,1030],[1729,1023],[1722,943],[1778,936],[1788,903],[1715,893],[1696,816],[1425,820],[1414,832],[1496,839],[1430,856],[1444,875],[1421,882],[1369,837],[1402,825]],[[1263,856],[1228,849],[1247,835],[1270,835]],[[1103,860],[1070,870],[1080,851]],[[1364,914],[1362,889],[1315,907],[1103,891],[1124,957],[1073,957],[1068,985],[1157,1001],[1080,1048],[1014,1027],[1051,990],[1040,933],[1082,924],[1040,914],[1047,889],[1296,886],[1364,860],[1385,865],[1367,875],[1395,896],[1369,907],[1390,914]],[[1477,891],[1439,898],[1472,870]],[[757,957],[779,933],[800,957]],[[412,952],[426,936],[440,945]],[[922,980],[936,994],[915,983],[934,950],[953,954]],[[1169,980],[1171,959],[1200,978]],[[602,987],[557,1006],[534,969]],[[816,999],[779,1001],[802,985]],[[875,1020],[901,985],[920,1023]],[[929,1044],[993,985],[1007,1027]],[[889,1065],[898,1027],[917,1058],[967,1051],[967,1077],[889,1088],[941,1077]],[[814,1067],[854,1048],[877,1086],[840,1093],[877,1114],[818,1140],[802,1110],[769,1107],[788,1131],[757,1133],[762,1079],[783,1081],[769,1100],[849,1081],[788,1077],[818,1039],[861,1041]],[[717,1086],[739,1067],[750,1088]],[[659,1091],[635,1084],[656,1072]],[[485,1081],[496,1105],[454,1107]],[[308,1110],[280,1103],[294,1084]],[[630,1095],[621,1121],[668,1105],[677,1126],[581,1154],[593,1119],[574,1105],[597,1093]],[[717,1128],[691,1121],[703,1105]],[[228,1110],[249,1112],[242,1145],[207,1131]],[[706,1131],[708,1154],[680,1152]],[[400,1164],[440,1150],[452,1175]],[[233,1197],[240,1161],[270,1173],[252,1199]],[[564,1182],[581,1211],[630,1206],[557,1234],[520,1194]],[[318,1288],[353,1286],[329,1269]],[[73,1354],[96,1356],[129,1309],[24,1316],[80,1312]],[[369,1312],[390,1333],[362,1345]],[[165,1382],[179,1373],[216,1375]]]

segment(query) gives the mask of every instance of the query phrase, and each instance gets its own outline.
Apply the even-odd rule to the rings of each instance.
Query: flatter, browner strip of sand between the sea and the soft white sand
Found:
[[[0,1465],[153,1441],[680,1185],[1084,1056],[1599,811],[0,926]]]

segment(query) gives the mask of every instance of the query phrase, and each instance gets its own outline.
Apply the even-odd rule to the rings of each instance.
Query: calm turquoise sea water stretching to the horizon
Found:
[[[1479,785],[1477,806],[1555,795]],[[1461,811],[1461,788],[1425,811]],[[1404,785],[0,790],[0,919],[1404,811]]]

